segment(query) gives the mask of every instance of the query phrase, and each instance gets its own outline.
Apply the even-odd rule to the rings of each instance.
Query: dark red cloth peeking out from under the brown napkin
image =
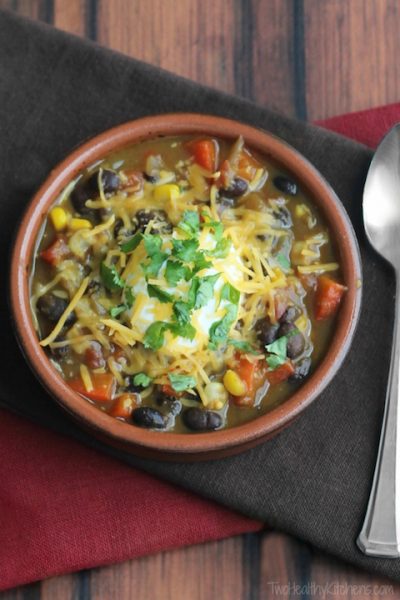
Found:
[[[374,147],[400,104],[320,125]],[[0,411],[0,589],[262,524]]]

